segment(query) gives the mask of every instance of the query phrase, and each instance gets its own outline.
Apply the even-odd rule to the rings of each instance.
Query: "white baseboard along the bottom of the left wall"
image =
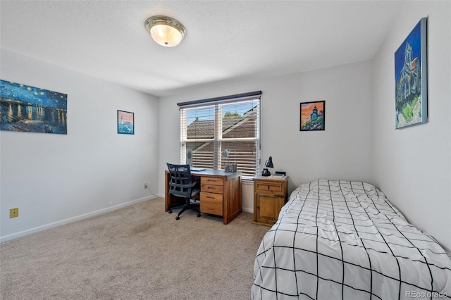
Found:
[[[77,216],[72,217],[72,218],[59,220],[59,221],[56,221],[54,223],[49,223],[49,224],[46,224],[46,225],[30,228],[28,230],[23,230],[21,232],[16,232],[16,233],[13,233],[11,235],[6,235],[4,237],[0,237],[0,243],[9,241],[11,239],[17,239],[18,237],[23,237],[25,235],[30,235],[32,233],[39,232],[39,231],[42,231],[42,230],[47,230],[47,229],[50,229],[52,227],[56,227],[56,226],[72,223],[72,222],[75,222],[75,221],[78,221],[78,220],[82,220],[82,219],[85,219],[85,218],[89,218],[89,217],[92,217],[94,215],[100,215],[101,213],[108,213],[110,211],[116,211],[116,209],[123,208],[125,206],[130,206],[130,205],[133,205],[133,204],[138,204],[140,202],[144,202],[144,201],[147,201],[147,200],[150,200],[150,199],[155,199],[155,198],[156,198],[156,196],[148,196],[148,197],[144,197],[144,198],[140,198],[140,199],[135,199],[135,200],[128,201],[128,202],[125,202],[125,203],[122,203],[122,204],[118,204],[118,205],[115,205],[115,206],[109,206],[107,208],[102,208],[102,209],[99,209],[98,211],[92,211],[90,213],[77,215]]]

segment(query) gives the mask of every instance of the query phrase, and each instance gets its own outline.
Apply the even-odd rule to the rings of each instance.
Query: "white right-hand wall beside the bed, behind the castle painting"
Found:
[[[373,59],[374,178],[421,230],[451,249],[450,1],[407,1]],[[394,54],[428,17],[428,123],[395,130]]]

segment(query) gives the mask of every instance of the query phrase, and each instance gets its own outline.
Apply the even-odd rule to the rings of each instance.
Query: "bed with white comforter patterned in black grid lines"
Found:
[[[450,298],[450,256],[365,182],[299,185],[254,261],[252,299]]]

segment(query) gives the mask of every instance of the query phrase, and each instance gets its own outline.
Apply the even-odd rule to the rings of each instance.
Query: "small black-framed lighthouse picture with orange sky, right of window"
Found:
[[[326,101],[301,103],[300,131],[324,130]]]

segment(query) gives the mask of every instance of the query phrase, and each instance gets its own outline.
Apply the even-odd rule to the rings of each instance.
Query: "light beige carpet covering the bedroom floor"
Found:
[[[152,199],[0,244],[0,299],[250,299],[269,227]]]

